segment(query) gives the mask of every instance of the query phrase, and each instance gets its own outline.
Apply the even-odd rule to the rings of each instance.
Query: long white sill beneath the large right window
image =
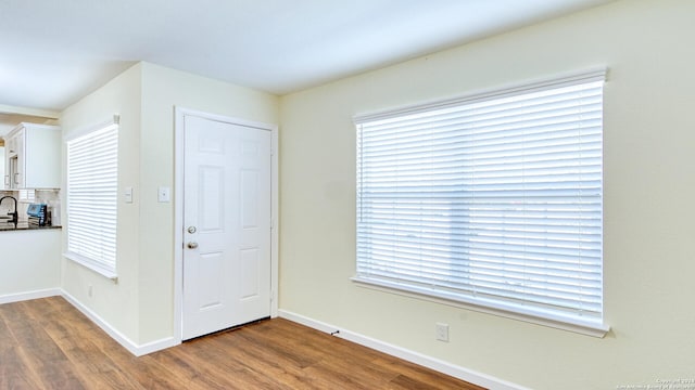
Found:
[[[428,294],[425,290],[418,290],[414,287],[406,287],[395,283],[376,282],[359,276],[351,278],[357,286],[364,288],[376,289],[379,291],[396,294],[409,298],[416,298],[434,303],[447,304],[455,308],[473,310],[486,314],[497,315],[505,318],[511,318],[522,321],[531,324],[543,325],[553,327],[556,329],[563,329],[568,332],[578,333],[581,335],[603,338],[610,330],[610,327],[595,321],[580,321],[576,318],[563,317],[554,314],[541,314],[540,312],[532,310],[525,310],[521,308],[514,308],[511,306],[506,307],[504,303],[497,302],[473,302],[447,299],[445,297],[438,297]]]

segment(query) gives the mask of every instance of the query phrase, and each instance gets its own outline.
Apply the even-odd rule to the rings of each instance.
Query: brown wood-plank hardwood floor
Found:
[[[482,388],[281,318],[136,358],[54,297],[0,304],[0,389]]]

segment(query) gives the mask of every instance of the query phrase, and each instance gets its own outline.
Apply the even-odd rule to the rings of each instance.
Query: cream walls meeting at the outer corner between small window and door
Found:
[[[117,273],[113,283],[70,260],[63,289],[135,346],[174,336],[174,107],[276,123],[278,99],[165,67],[140,63],[75,103],[61,117],[65,135],[121,114]],[[92,286],[93,294],[87,290]]]

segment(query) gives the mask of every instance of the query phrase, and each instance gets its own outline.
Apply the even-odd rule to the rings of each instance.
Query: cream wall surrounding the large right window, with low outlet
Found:
[[[280,308],[533,389],[694,378],[693,15],[693,1],[623,0],[283,96]],[[351,283],[353,115],[596,65],[609,67],[604,339]]]

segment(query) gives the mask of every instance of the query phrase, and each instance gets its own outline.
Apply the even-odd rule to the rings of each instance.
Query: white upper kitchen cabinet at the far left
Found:
[[[61,129],[20,123],[5,136],[5,190],[60,188]]]

